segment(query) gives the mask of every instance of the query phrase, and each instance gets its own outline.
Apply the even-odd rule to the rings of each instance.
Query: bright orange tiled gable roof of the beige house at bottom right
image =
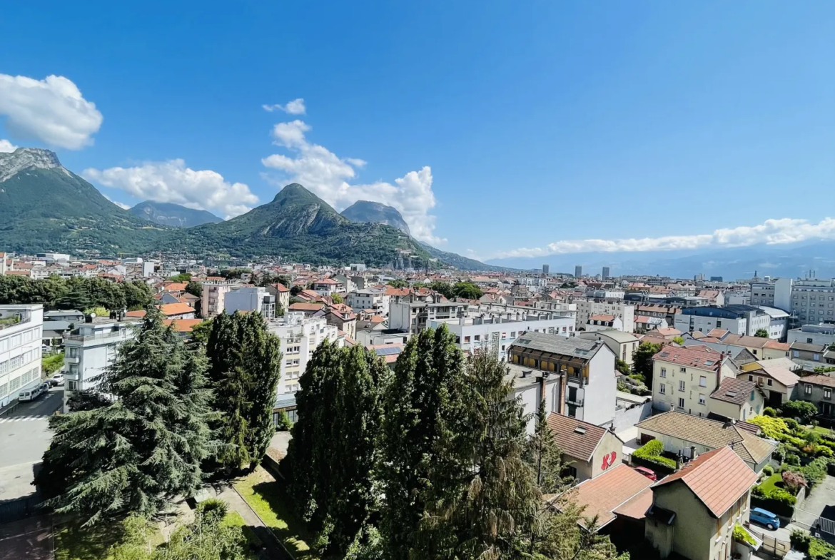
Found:
[[[757,473],[751,470],[730,447],[702,453],[653,488],[681,481],[696,494],[714,517],[732,507],[754,482]]]

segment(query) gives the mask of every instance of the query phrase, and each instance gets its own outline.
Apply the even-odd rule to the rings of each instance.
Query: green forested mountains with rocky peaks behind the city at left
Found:
[[[399,219],[405,225],[397,210],[377,209],[383,215],[392,210],[397,215],[383,221]],[[288,184],[271,202],[225,221],[205,213],[208,221],[194,212],[155,202],[125,210],[64,168],[51,151],[18,148],[0,154],[3,250],[102,256],[167,252],[215,260],[281,256],[321,265],[387,265],[411,255],[412,264],[420,266],[437,258],[397,227],[340,215],[301,184]],[[207,223],[191,226],[202,219]]]

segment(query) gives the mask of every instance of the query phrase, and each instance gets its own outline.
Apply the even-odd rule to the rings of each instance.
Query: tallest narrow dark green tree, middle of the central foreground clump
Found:
[[[385,396],[379,444],[386,496],[380,530],[387,557],[405,558],[414,547],[442,423],[456,421],[468,396],[463,356],[445,325],[407,342]]]

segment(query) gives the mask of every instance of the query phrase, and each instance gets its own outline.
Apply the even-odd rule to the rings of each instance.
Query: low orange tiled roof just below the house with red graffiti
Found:
[[[640,495],[652,483],[640,472],[620,463],[599,477],[581,482],[570,494],[570,499],[580,506],[585,506],[583,517],[597,516],[598,527],[603,527],[615,520],[613,512],[616,509],[625,507],[627,502]]]

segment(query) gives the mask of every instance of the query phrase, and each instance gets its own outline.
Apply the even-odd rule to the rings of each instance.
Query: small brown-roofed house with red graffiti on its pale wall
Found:
[[[624,442],[613,431],[556,412],[548,416],[548,426],[563,452],[563,462],[570,463],[568,470],[579,482],[623,462]]]

